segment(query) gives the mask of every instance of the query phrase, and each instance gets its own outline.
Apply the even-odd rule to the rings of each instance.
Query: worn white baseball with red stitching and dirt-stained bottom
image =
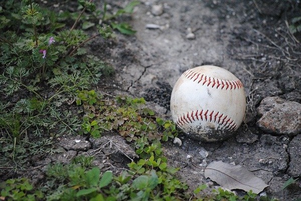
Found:
[[[200,141],[222,141],[232,136],[243,121],[245,109],[241,81],[217,66],[187,70],[171,95],[173,121]]]

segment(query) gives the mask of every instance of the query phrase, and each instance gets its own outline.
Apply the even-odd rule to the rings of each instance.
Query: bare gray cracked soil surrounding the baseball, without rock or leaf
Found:
[[[279,96],[300,103],[301,38],[288,30],[290,20],[300,15],[300,3],[142,2],[131,21],[136,35],[119,37],[117,47],[109,51],[118,71],[116,79],[100,89],[142,96],[162,107],[157,109],[159,114],[169,115],[172,87],[184,71],[200,65],[229,70],[245,87],[248,106],[244,124],[235,137],[220,143],[197,142],[180,136],[181,147],[173,143],[164,145],[170,163],[181,167],[179,176],[190,189],[208,183],[202,170],[207,163],[222,160],[247,167],[261,177],[270,185],[266,189],[269,196],[281,200],[301,197],[300,181],[281,190],[292,176],[287,172],[290,164],[287,145],[293,137],[267,134],[256,126],[259,119],[256,108],[263,98]],[[153,15],[152,7],[160,4],[163,14]],[[159,25],[160,29],[147,29],[148,24]],[[187,38],[188,29],[195,39]],[[208,152],[206,158],[202,155],[204,151]]]

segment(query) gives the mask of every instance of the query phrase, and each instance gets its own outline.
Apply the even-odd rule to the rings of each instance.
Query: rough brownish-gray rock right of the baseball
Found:
[[[267,133],[296,135],[301,132],[301,104],[279,97],[266,97],[257,112],[257,126]]]

